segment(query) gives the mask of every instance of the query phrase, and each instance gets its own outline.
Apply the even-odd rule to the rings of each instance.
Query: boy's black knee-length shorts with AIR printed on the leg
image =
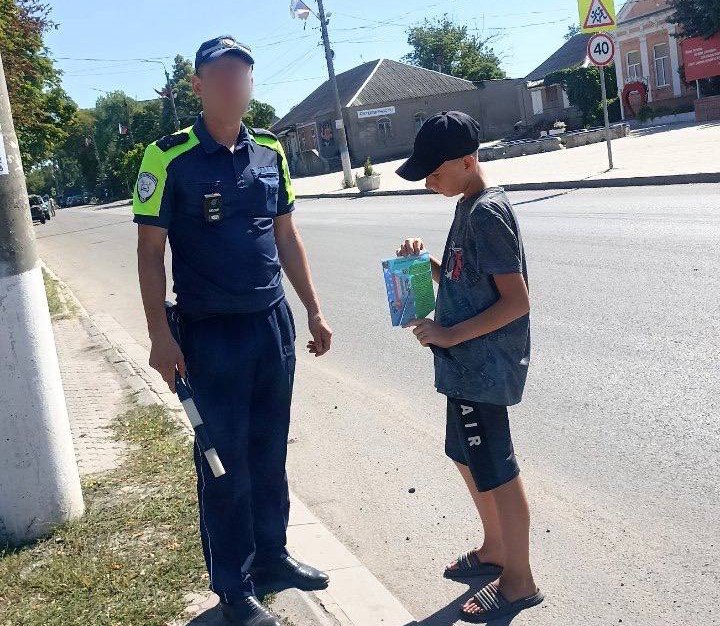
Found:
[[[491,491],[519,473],[507,407],[448,398],[445,454],[467,465],[478,491]]]

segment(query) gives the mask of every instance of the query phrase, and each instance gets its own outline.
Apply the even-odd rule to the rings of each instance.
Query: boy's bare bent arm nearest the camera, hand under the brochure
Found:
[[[530,296],[522,274],[494,274],[493,279],[500,298],[479,315],[447,328],[430,319],[414,320],[407,326],[414,327],[413,333],[423,346],[450,348],[494,332],[529,313]]]

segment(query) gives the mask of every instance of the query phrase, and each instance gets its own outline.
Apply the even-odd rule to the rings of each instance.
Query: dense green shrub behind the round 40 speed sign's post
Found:
[[[603,68],[607,86],[608,101],[617,98],[615,69],[611,64]],[[562,85],[567,92],[570,104],[582,113],[584,126],[599,125],[603,120],[602,90],[600,88],[600,68],[572,67],[553,72],[545,77],[545,85]]]

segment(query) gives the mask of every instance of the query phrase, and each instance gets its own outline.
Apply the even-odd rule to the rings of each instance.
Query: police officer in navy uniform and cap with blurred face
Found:
[[[253,85],[250,49],[234,38],[203,43],[192,86],[203,112],[192,127],[145,151],[133,197],[138,270],[152,343],[150,364],[174,391],[187,376],[225,466],[215,478],[195,446],[200,534],[210,588],[233,624],[279,623],[253,581],[321,589],[328,577],[285,549],[285,473],[295,327],[281,270],[308,312],[315,356],[330,348],[294,193],[277,138],[242,123]],[[164,310],[165,242],[172,252],[180,345]]]

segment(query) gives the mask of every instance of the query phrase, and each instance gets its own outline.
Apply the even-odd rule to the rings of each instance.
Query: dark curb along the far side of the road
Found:
[[[699,185],[720,183],[720,172],[700,174],[669,174],[667,176],[636,176],[629,178],[597,178],[550,181],[546,183],[510,183],[500,185],[505,191],[543,191],[546,189],[604,189],[607,187],[651,187],[663,185]],[[337,193],[297,194],[300,200],[330,200],[333,198],[372,198],[391,196],[435,195],[428,189],[389,189],[387,191],[339,191]]]

